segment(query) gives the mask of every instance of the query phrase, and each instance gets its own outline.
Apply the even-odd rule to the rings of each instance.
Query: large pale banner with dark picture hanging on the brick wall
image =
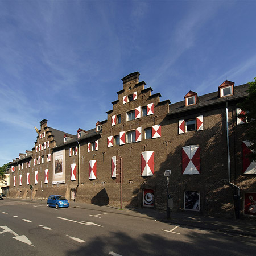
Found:
[[[53,153],[52,184],[65,183],[65,150]]]

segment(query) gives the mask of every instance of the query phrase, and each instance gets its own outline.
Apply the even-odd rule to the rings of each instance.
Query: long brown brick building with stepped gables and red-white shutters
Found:
[[[40,122],[32,151],[10,162],[10,196],[58,193],[119,205],[122,180],[122,205],[166,209],[164,173],[171,170],[172,210],[254,216],[256,163],[248,157],[249,128],[237,106],[248,85],[225,81],[214,93],[189,91],[171,104],[145,88],[138,72],[122,81],[108,118],[94,129],[72,135]]]

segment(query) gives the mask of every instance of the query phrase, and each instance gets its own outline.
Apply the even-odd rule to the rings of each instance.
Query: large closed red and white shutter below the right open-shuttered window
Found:
[[[182,148],[182,174],[200,174],[200,146]]]

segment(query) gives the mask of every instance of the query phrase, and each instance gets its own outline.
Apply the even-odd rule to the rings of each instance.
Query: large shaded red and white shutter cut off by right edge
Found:
[[[243,150],[243,174],[256,174],[256,162],[250,159],[251,150],[250,141],[242,142],[242,150]]]

